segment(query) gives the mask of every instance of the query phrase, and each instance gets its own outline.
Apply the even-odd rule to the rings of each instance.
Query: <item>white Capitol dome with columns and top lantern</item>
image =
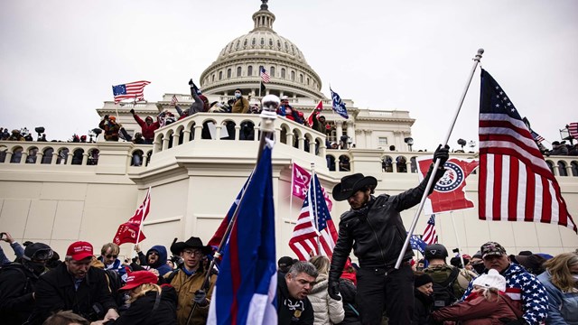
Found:
[[[303,52],[273,30],[275,14],[267,0],[253,14],[255,27],[234,39],[219,52],[219,57],[200,75],[200,88],[210,95],[232,95],[241,88],[244,95],[259,96],[260,68],[271,76],[266,93],[291,98],[325,98],[322,80],[309,66]]]

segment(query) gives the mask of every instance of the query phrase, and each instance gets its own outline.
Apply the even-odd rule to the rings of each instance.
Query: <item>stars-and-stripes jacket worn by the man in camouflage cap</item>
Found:
[[[522,266],[514,263],[510,264],[501,275],[506,278],[506,294],[514,302],[521,302],[524,320],[529,325],[536,325],[545,320],[548,296],[544,284],[540,283],[535,275],[529,274]],[[470,295],[472,283],[473,281],[463,293],[462,300]]]

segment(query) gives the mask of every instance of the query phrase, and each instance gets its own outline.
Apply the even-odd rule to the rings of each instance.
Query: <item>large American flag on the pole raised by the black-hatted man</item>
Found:
[[[486,70],[480,93],[480,219],[552,223],[577,231],[534,138]]]

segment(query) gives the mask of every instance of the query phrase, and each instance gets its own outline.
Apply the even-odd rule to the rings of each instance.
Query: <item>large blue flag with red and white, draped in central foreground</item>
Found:
[[[239,202],[210,302],[207,324],[276,324],[275,207],[266,146]]]

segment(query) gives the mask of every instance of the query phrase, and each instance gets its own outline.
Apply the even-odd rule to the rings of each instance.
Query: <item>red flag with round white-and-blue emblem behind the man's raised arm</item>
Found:
[[[423,180],[432,164],[432,158],[418,158],[419,180]],[[449,159],[445,163],[447,172],[442,179],[434,184],[433,192],[427,197],[424,205],[426,215],[433,213],[473,208],[473,202],[466,198],[464,187],[466,177],[478,167],[476,160]]]

